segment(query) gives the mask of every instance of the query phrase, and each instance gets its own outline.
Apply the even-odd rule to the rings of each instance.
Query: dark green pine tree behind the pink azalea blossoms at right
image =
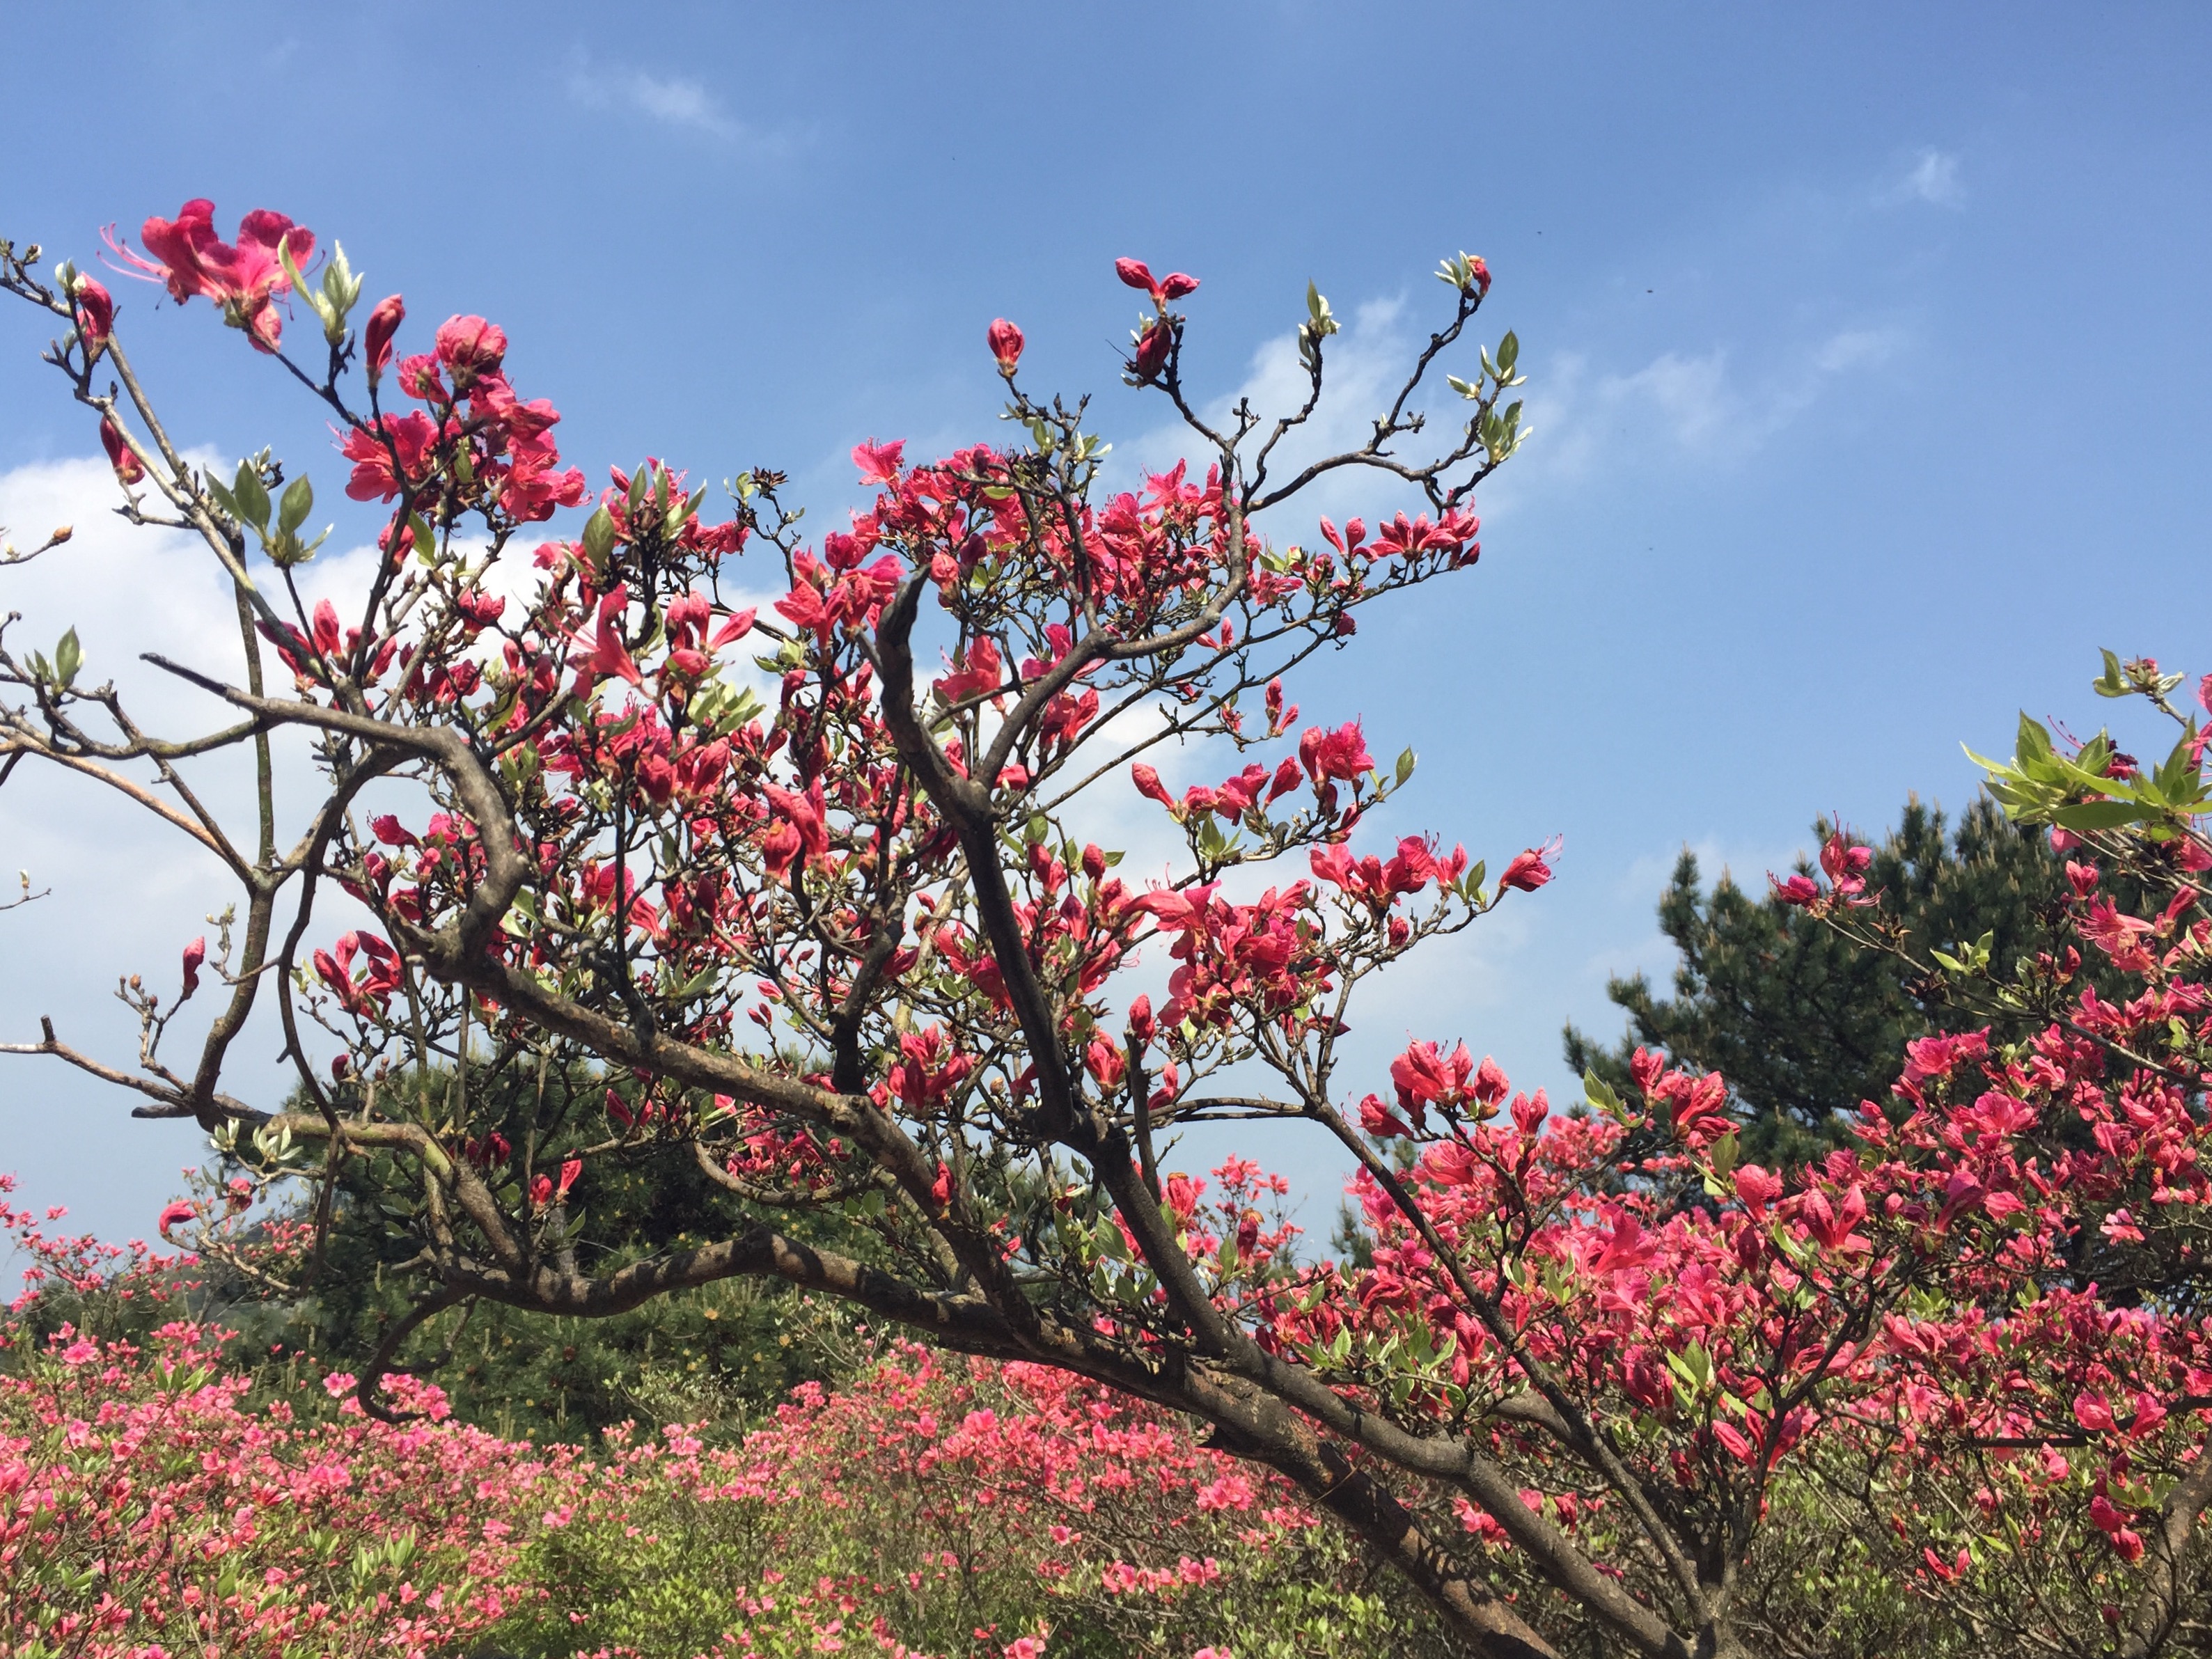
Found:
[[[1832,830],[1816,821],[1816,841]],[[2042,830],[2008,823],[1986,796],[1951,834],[1940,810],[1907,801],[1898,827],[1874,847],[1867,891],[1902,925],[1907,956],[1924,960],[1929,949],[1989,933],[1991,960],[2011,962],[2037,949],[2064,909],[2064,858]],[[1708,894],[1688,849],[1659,896],[1659,927],[1681,951],[1674,995],[1657,995],[1641,973],[1610,980],[1606,995],[1628,1011],[1628,1033],[1601,1048],[1566,1026],[1566,1062],[1615,1088],[1628,1088],[1637,1046],[1719,1071],[1752,1119],[1743,1155],[1761,1164],[1818,1155],[1860,1102],[1887,1102],[1907,1040],[1989,1024],[1944,1002],[1940,982],[1896,956],[1783,905],[1763,878],[1745,891],[1723,872]]]

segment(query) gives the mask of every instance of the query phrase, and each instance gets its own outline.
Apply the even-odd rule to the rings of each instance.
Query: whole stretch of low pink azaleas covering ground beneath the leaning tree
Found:
[[[33,1281],[0,1349],[9,1659],[1449,1650],[1281,1482],[1066,1374],[883,1345],[750,1429],[593,1444],[403,1378],[387,1425],[168,1318],[188,1259],[0,1217]],[[139,1336],[40,1334],[55,1305]]]

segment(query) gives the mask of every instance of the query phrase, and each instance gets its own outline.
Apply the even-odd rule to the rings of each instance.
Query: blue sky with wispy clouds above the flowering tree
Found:
[[[93,38],[11,7],[0,234],[84,261],[97,226],[186,197],[219,223],[281,208],[414,319],[504,323],[518,387],[564,409],[593,478],[644,453],[768,465],[818,513],[854,500],[858,438],[995,431],[998,314],[1029,332],[1024,383],[1097,392],[1124,456],[1166,453],[1115,376],[1117,254],[1203,279],[1186,367],[1230,396],[1265,387],[1307,279],[1358,319],[1363,372],[1444,299],[1438,257],[1482,252],[1535,436],[1480,502],[1482,566],[1371,619],[1301,701],[1420,752],[1391,830],[1493,867],[1555,832],[1566,854],[1369,998],[1376,1057],[1467,1037],[1557,1091],[1559,1024],[1610,1033],[1606,973],[1668,969],[1652,902],[1681,845],[1759,878],[1816,812],[1964,803],[1962,739],[2002,748],[2020,708],[2099,719],[2099,646],[2212,668],[2199,7],[615,18],[117,4]],[[206,307],[119,296],[186,442],[279,442],[336,500],[312,411]],[[84,562],[0,573],[0,608],[33,639],[77,624],[102,670],[102,644],[126,657],[206,595],[159,546],[88,531],[93,434],[31,323],[0,312],[0,522],[35,538],[66,509]],[[53,896],[0,916],[0,1040],[51,1011],[126,1062],[108,989],[173,971],[217,902],[206,872],[20,774],[18,865]],[[272,1088],[274,1048],[259,1033],[241,1082]],[[1261,1155],[1325,1192],[1312,1148]],[[0,1168],[102,1232],[144,1230],[195,1157],[51,1062],[0,1071]]]

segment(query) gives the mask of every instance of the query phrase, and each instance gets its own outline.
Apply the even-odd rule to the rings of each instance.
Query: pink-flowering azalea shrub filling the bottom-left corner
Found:
[[[352,1378],[345,1378],[349,1385]],[[0,1652],[425,1655],[531,1595],[522,1495],[575,1467],[425,1420],[248,1411],[204,1327],[62,1334],[0,1376]]]

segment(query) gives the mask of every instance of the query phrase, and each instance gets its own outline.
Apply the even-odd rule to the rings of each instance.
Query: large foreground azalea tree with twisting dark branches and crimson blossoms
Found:
[[[139,246],[111,237],[111,265],[208,299],[319,403],[347,495],[385,509],[380,557],[343,611],[307,606],[305,473],[190,465],[104,281],[0,248],[124,515],[199,538],[241,646],[228,672],[153,657],[232,710],[168,737],[91,681],[73,635],[0,635],[20,699],[0,765],[126,792],[241,907],[184,949],[177,1000],[126,982],[135,1066],[51,1024],[13,1051],[195,1119],[248,1192],[305,1183],[327,1214],[347,1161],[392,1172],[369,1221],[407,1241],[418,1294],[363,1407],[392,1411],[383,1378],[434,1363],[478,1303],[606,1316],[779,1279],[1188,1413],[1484,1655],[1820,1650],[1816,1621],[1770,1613],[1803,1564],[1776,1502],[1792,1471],[1827,1471],[1858,1517],[1893,1495],[1900,1553],[1869,1571],[1913,1606],[1973,1595],[2000,1555],[2079,1555],[2079,1522],[2112,1641],[2172,1641],[2212,1354],[2190,1305],[2112,1307],[2077,1243],[2126,1248],[2135,1219],[2208,1197],[2194,726],[2137,783],[2095,745],[2020,761],[2044,790],[2022,812],[2090,814],[2106,863],[2150,883],[2159,907],[2124,916],[2088,869],[2068,918],[2141,995],[2064,1004],[2079,958],[2059,945],[2020,984],[1933,962],[2046,998],[2048,1022],[1916,1048],[1896,1104],[1816,1164],[1743,1161],[1725,1079],[1652,1053],[1577,1113],[1427,1040],[1369,1091],[1340,1075],[1356,993],[1551,878],[1551,849],[1491,876],[1429,836],[1374,845],[1411,754],[1378,768],[1358,723],[1301,726],[1287,690],[1369,604],[1475,566],[1473,491],[1524,436],[1517,341],[1462,361],[1480,259],[1444,261],[1438,330],[1343,451],[1307,440],[1336,332],[1318,290],[1298,405],[1221,409],[1186,380],[1197,279],[1124,259],[1146,305],[1124,380],[1166,398],[1194,465],[1115,491],[1086,405],[1024,387],[1022,332],[998,321],[1013,440],[929,462],[863,442],[872,504],[810,538],[765,469],[714,513],[657,460],[588,498],[502,330],[407,338],[396,294],[356,330],[361,276],[281,215],[226,243],[195,201]],[[1449,420],[1422,409],[1438,376]],[[1292,509],[1323,480],[1405,511],[1307,538]],[[562,509],[582,522],[533,529]],[[314,805],[281,825],[290,728],[314,745],[285,781]],[[1157,761],[1192,743],[1237,770],[1170,790]],[[254,757],[243,830],[190,783],[223,750]],[[1117,876],[1097,841],[1139,796],[1183,845],[1164,883]],[[1827,878],[1787,894],[1874,927],[1867,865],[1838,836]],[[173,1062],[192,995],[219,1006]],[[263,1000],[292,1104],[223,1088]],[[2064,1113],[2110,1133],[2062,1150]],[[1367,1263],[1301,1261],[1252,1159],[1210,1183],[1164,1170],[1164,1141],[1210,1121],[1248,1124],[1254,1150],[1340,1146]],[[726,1194],[714,1237],[644,1248],[595,1221],[613,1172],[668,1159]],[[1683,1186],[1705,1201],[1674,1203]],[[241,1225],[226,1192],[164,1214],[212,1254]],[[1962,1500],[1978,1528],[1947,1506],[1973,1460],[2004,1464]]]

